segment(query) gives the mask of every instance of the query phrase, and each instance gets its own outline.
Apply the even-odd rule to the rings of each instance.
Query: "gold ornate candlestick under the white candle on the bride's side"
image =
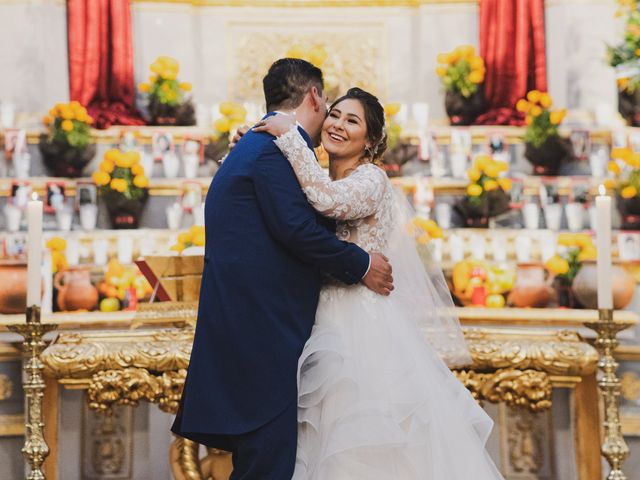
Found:
[[[602,375],[598,379],[598,386],[604,399],[604,441],[601,452],[611,467],[607,480],[626,480],[622,464],[629,455],[629,447],[624,441],[620,425],[620,379],[616,376],[618,362],[613,357],[613,351],[618,346],[618,332],[630,325],[614,322],[613,310],[600,309],[598,321],[588,322],[586,326],[597,333],[595,346],[600,353],[598,368]]]

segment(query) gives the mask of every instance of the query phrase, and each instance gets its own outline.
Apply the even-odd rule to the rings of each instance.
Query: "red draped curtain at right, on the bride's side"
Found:
[[[518,99],[547,91],[544,0],[480,0],[480,55],[488,111],[475,123],[521,125]]]

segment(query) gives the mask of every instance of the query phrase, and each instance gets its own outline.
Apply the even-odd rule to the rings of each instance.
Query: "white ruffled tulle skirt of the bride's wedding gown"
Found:
[[[295,480],[503,478],[492,420],[398,303],[323,289],[299,363]]]

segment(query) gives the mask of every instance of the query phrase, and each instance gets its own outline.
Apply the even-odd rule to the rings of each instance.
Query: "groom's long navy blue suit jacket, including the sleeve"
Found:
[[[207,194],[178,434],[246,433],[297,401],[298,358],[315,320],[321,272],[354,284],[369,265],[366,252],[339,241],[312,209],[273,138],[244,135]]]

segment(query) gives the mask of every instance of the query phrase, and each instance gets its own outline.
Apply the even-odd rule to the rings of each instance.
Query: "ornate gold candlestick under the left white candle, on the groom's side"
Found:
[[[40,307],[34,305],[27,307],[27,323],[11,325],[9,328],[24,339],[22,387],[26,398],[26,432],[22,454],[31,467],[27,480],[44,480],[42,464],[49,455],[49,447],[44,439],[42,399],[45,385],[40,354],[45,346],[42,337],[48,331],[55,329],[56,325],[40,323]]]

